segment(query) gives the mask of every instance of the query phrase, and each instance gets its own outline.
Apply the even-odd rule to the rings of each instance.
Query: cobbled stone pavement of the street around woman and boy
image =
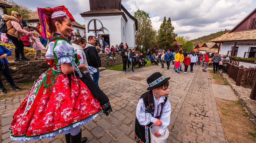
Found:
[[[172,115],[168,142],[226,142],[208,72],[203,72],[200,66],[187,74],[176,73],[174,65],[170,66],[170,70],[166,69],[166,65],[165,69],[160,67],[136,68],[135,73],[127,74],[110,70],[100,72],[99,86],[109,97],[113,112],[109,116],[101,114],[82,126],[82,135],[88,137],[89,143],[134,143],[136,105],[141,94],[146,92],[146,78],[157,71],[171,77],[169,100]],[[24,97],[0,101],[3,143],[16,143],[10,140],[8,129],[12,115]],[[65,143],[65,135],[28,143],[35,142]]]

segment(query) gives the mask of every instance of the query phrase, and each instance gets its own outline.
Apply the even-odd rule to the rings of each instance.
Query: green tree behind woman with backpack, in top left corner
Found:
[[[30,17],[30,14],[35,12],[32,9],[29,9],[29,7],[25,7],[23,5],[18,5],[14,2],[14,0],[6,1],[10,4],[12,4],[12,8],[7,8],[8,15],[11,15],[11,11],[14,10],[22,15],[22,18],[24,20],[28,20]]]

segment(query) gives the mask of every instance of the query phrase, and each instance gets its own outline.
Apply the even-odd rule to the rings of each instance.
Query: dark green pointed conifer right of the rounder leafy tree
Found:
[[[169,17],[166,21],[166,17],[163,18],[163,23],[160,25],[158,30],[158,45],[162,49],[167,47],[174,47],[174,38],[177,34],[174,32],[174,27],[172,26],[171,18]]]

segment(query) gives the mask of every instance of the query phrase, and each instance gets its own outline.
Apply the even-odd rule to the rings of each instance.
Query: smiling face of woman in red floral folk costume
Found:
[[[58,29],[58,28],[57,28]],[[73,23],[71,21],[69,21],[67,18],[64,19],[64,21],[62,22],[62,24],[59,24],[59,32],[65,36],[65,37],[69,37],[72,34],[73,29]]]

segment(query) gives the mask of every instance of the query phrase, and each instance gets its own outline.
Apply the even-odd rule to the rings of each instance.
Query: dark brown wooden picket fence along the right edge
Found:
[[[236,86],[241,84],[252,87],[250,99],[256,100],[256,67],[244,68],[244,66],[237,66],[230,61],[227,66],[228,77],[236,81]]]

